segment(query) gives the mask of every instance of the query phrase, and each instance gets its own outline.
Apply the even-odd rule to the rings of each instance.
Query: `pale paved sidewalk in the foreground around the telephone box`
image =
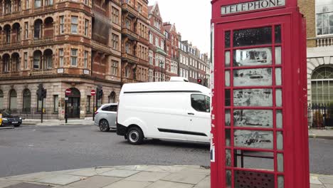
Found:
[[[199,166],[116,166],[38,172],[0,178],[0,188],[208,188]],[[311,188],[333,188],[333,176],[312,174]]]

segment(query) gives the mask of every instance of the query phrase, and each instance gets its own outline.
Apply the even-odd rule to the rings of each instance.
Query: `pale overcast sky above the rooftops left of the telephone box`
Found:
[[[201,53],[209,53],[211,32],[211,0],[149,0],[155,2],[163,22],[176,23],[182,41],[191,41]]]

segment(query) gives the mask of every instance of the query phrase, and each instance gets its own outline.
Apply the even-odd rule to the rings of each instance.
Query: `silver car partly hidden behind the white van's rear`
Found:
[[[107,132],[117,128],[117,108],[117,103],[110,103],[102,105],[95,112],[95,125],[100,127],[100,131]]]

